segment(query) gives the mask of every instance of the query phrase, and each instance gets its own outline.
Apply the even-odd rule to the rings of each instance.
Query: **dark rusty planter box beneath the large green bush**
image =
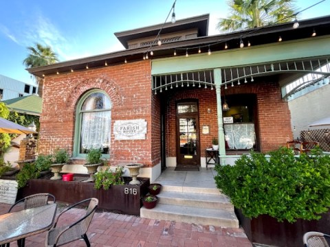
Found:
[[[303,246],[303,235],[308,231],[330,234],[330,213],[322,214],[320,220],[301,220],[294,223],[278,222],[269,215],[256,218],[245,217],[240,209],[235,209],[239,223],[252,243],[270,246]]]

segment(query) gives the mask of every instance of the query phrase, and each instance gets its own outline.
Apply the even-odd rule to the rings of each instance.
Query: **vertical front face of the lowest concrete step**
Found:
[[[239,228],[239,222],[236,220],[208,218],[208,217],[190,216],[190,215],[177,215],[172,213],[157,212],[143,208],[141,209],[140,214],[141,217],[157,219],[157,220],[175,220],[176,222]]]

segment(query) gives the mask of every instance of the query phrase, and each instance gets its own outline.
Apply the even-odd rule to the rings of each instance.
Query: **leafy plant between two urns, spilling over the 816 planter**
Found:
[[[94,175],[95,178],[95,189],[105,190],[109,189],[111,185],[124,185],[124,180],[122,179],[123,167],[116,167],[115,172],[111,169],[106,169],[105,171],[100,171]]]

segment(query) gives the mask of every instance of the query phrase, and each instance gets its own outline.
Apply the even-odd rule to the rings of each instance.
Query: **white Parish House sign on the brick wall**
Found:
[[[144,140],[146,139],[146,120],[117,120],[113,125],[115,140]]]

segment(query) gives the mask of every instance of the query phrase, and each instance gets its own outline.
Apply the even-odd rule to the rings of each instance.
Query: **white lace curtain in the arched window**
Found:
[[[81,146],[84,149],[109,148],[111,111],[83,113]]]

